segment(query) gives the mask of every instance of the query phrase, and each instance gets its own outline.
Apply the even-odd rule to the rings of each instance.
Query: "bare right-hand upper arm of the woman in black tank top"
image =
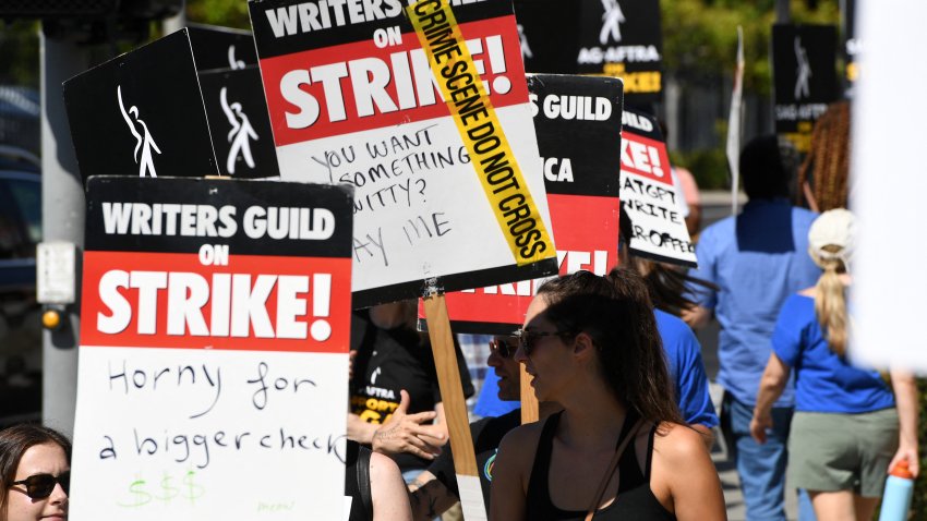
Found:
[[[657,435],[651,474],[651,483],[657,487],[654,494],[660,499],[663,487],[669,488],[669,502],[678,521],[726,520],[721,481],[699,438],[698,433],[682,425],[673,425],[665,435]]]

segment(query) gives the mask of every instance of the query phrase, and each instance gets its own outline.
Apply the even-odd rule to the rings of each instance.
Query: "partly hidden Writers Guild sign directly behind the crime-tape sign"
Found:
[[[538,74],[528,76],[528,88],[559,272],[588,269],[605,275],[618,252],[622,82]],[[454,330],[510,334],[521,327],[544,280],[448,293]]]

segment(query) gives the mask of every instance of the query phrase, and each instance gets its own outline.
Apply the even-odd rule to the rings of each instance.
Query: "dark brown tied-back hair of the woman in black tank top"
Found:
[[[557,330],[586,332],[615,397],[642,419],[684,423],[673,396],[653,305],[643,279],[629,268],[599,277],[578,271],[545,282],[538,295]]]

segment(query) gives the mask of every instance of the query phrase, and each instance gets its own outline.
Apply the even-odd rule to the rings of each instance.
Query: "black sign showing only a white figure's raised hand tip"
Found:
[[[197,71],[257,65],[257,51],[251,32],[197,24],[190,24],[186,29],[193,44]]]

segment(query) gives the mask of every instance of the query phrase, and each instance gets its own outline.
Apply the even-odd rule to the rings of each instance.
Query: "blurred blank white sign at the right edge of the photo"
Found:
[[[850,353],[866,365],[927,374],[920,328],[927,293],[919,240],[924,221],[922,86],[927,62],[911,36],[923,32],[924,2],[859,2],[859,80],[853,102],[851,209],[858,246],[851,266],[854,329]]]

